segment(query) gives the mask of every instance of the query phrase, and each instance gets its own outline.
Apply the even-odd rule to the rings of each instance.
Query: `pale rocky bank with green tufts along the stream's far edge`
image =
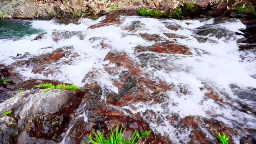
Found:
[[[25,2],[23,0],[7,0],[0,2],[0,18],[75,19],[90,15],[99,17],[116,10],[128,10],[136,13],[138,10],[146,8],[167,13],[160,17],[180,19],[182,17],[200,17],[200,15],[220,16],[231,12],[248,15],[255,12],[255,5],[254,0],[123,0],[122,2],[117,0],[26,0]]]

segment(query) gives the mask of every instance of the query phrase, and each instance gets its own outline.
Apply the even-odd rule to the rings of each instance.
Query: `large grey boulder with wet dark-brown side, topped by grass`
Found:
[[[54,89],[44,94],[43,90],[24,91],[0,104],[0,114],[11,109],[15,113],[15,122],[16,118],[20,121],[19,129],[25,129],[26,132],[22,132],[18,138],[20,143],[24,141],[48,142],[36,138],[50,139],[53,136],[57,137],[55,141],[60,142],[62,139],[58,137],[66,131],[71,113],[81,102],[79,92]],[[25,139],[27,135],[33,138]]]

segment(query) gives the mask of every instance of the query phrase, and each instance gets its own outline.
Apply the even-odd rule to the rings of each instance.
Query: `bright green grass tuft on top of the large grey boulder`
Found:
[[[50,91],[51,89],[69,89],[71,91],[76,91],[79,89],[78,86],[75,86],[74,84],[59,84],[57,86],[53,85],[52,83],[45,83],[45,84],[40,84],[37,87],[46,87],[47,89],[44,91],[46,93],[47,91]]]

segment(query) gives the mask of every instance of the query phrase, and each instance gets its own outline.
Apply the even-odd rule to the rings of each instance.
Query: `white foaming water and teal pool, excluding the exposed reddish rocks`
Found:
[[[79,56],[64,57],[60,61],[48,65],[44,70],[45,74],[34,74],[32,72],[33,66],[30,65],[17,67],[15,71],[22,74],[24,80],[52,79],[74,83],[78,86],[96,81],[105,92],[118,93],[118,88],[113,84],[113,81],[119,78],[118,73],[115,75],[108,74],[104,70],[104,65],[108,64],[109,61],[104,59],[109,52],[126,53],[136,63],[143,65],[141,70],[143,74],[150,76],[150,80],[165,81],[172,84],[176,91],[165,93],[168,96],[165,98],[165,108],[163,108],[163,104],[141,102],[123,106],[120,109],[128,110],[130,114],[144,113],[148,109],[156,112],[156,119],[148,121],[145,116],[144,121],[148,121],[154,131],[163,136],[169,136],[174,143],[188,142],[190,130],[178,130],[173,127],[166,119],[166,116],[172,114],[178,114],[180,118],[192,115],[216,119],[223,121],[230,127],[256,128],[254,116],[232,107],[236,105],[233,100],[243,101],[243,103],[254,102],[250,99],[241,100],[233,93],[230,88],[231,84],[242,89],[256,88],[256,79],[251,77],[251,75],[256,74],[256,63],[255,61],[243,62],[240,57],[243,51],[238,51],[237,40],[243,38],[243,35],[236,35],[236,33],[243,34],[240,30],[246,28],[240,20],[228,19],[220,22],[212,18],[180,21],[123,16],[121,17],[121,25],[88,29],[89,26],[100,23],[100,20],[103,19],[105,17],[95,21],[84,18],[80,20],[79,25],[63,25],[56,21],[1,21],[1,31],[4,32],[0,34],[2,38],[0,40],[0,64],[11,65],[18,61],[13,59],[17,53],[29,52],[30,57],[33,57],[49,53],[62,46],[73,46],[72,53]],[[140,28],[130,32],[123,30],[124,27],[132,25],[135,21],[142,23]],[[166,23],[179,25],[183,29],[169,30],[165,26]],[[225,35],[219,38],[211,33],[199,35],[200,30],[224,31]],[[42,31],[48,32],[46,38],[33,41],[37,36],[35,34]],[[85,38],[80,40],[78,35],[74,35],[71,38],[62,38],[56,42],[53,40],[53,31],[80,31]],[[163,42],[175,41],[179,45],[188,46],[193,55],[162,54],[152,51],[136,53],[136,46],[151,46],[156,43],[141,38],[139,35],[141,33],[157,34],[161,36]],[[184,38],[168,38],[164,33],[173,33],[184,36]],[[91,40],[93,37],[99,39],[93,41]],[[199,42],[197,37],[207,40]],[[102,47],[101,42],[109,46]],[[46,47],[52,48],[45,49]],[[68,62],[68,64],[63,62]],[[155,65],[159,66],[156,67]],[[48,74],[49,69],[54,69],[55,72]],[[98,74],[93,79],[83,81],[85,75],[90,71],[97,71]],[[120,71],[122,71],[121,68]],[[187,95],[180,93],[179,86],[185,86],[190,93]],[[204,94],[208,91],[201,91],[204,86],[213,88],[224,102],[231,105],[221,105],[214,102],[213,99],[206,99]],[[104,93],[102,98],[105,98]],[[209,112],[212,114],[209,115]],[[161,119],[161,123],[159,119]]]

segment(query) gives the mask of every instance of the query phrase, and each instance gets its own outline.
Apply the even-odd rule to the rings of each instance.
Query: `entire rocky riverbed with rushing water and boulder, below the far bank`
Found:
[[[10,81],[0,82],[0,115],[12,110],[0,119],[1,143],[80,144],[117,124],[126,137],[151,130],[145,144],[217,144],[216,132],[256,142],[254,20],[117,11],[1,22],[0,77]],[[80,89],[44,93],[43,83]]]

